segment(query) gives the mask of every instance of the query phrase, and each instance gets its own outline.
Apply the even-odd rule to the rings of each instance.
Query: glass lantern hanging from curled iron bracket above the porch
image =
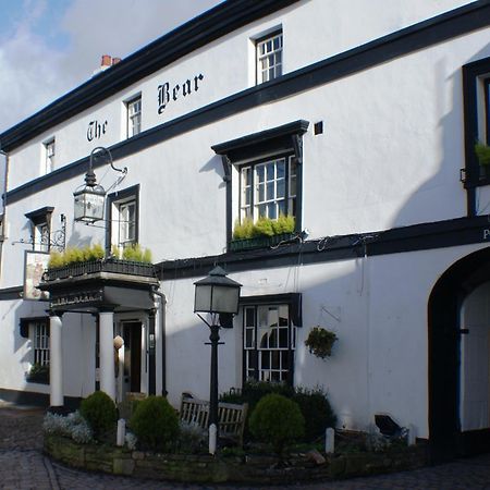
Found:
[[[97,184],[94,172],[94,160],[105,157],[109,161],[111,168],[118,172],[126,173],[127,169],[117,169],[112,163],[111,152],[101,146],[94,148],[88,160],[88,170],[85,174],[85,185],[77,188],[73,196],[75,198],[75,221],[84,221],[86,223],[95,223],[103,220],[103,205],[106,201],[106,191],[101,185]]]

